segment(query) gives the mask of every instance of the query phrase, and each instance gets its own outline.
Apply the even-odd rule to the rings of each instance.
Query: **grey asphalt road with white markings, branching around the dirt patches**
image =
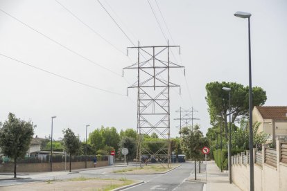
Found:
[[[113,174],[114,170],[121,170],[123,166],[103,167],[80,172],[72,172],[71,174],[63,172],[46,172],[44,174],[30,174],[31,179],[19,180],[2,180],[0,186],[17,185],[22,183],[32,183],[37,181],[47,180],[63,180],[73,179],[77,177],[87,178],[101,178],[101,179],[119,179],[125,177],[126,179],[134,179],[144,181],[141,185],[128,188],[126,190],[195,190],[202,191],[203,183],[195,183],[185,181],[191,174],[194,173],[193,163],[181,163],[180,167],[171,170],[166,174]],[[134,166],[130,166],[134,167]],[[202,165],[202,172],[205,171]],[[1,190],[1,187],[0,187]]]

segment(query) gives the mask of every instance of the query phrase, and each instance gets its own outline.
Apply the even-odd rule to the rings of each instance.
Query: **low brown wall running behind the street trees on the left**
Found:
[[[107,166],[108,161],[98,161],[96,167]],[[87,167],[94,167],[94,162],[88,161]],[[85,162],[72,162],[71,169],[85,168]],[[66,163],[66,169],[69,170],[69,162]],[[0,172],[13,172],[14,164],[4,163],[0,165]],[[53,171],[65,170],[64,163],[53,163]],[[17,164],[17,172],[49,172],[50,163],[21,163]]]

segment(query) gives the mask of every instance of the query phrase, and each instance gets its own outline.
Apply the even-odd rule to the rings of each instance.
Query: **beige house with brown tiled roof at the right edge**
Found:
[[[287,140],[287,107],[255,106],[252,111],[253,123],[261,122],[259,132],[270,135],[270,142],[277,138]]]

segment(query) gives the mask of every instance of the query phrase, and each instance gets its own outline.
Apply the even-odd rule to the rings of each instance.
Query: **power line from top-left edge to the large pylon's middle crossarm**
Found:
[[[116,73],[116,72],[114,72],[114,71],[112,71],[112,70],[110,70],[110,69],[107,69],[105,66],[102,66],[101,64],[98,64],[98,63],[94,62],[93,60],[90,60],[89,58],[87,58],[87,57],[85,57],[85,56],[83,56],[83,55],[80,55],[80,53],[77,53],[76,51],[71,50],[71,48],[68,48],[67,46],[64,46],[63,44],[60,44],[60,42],[56,41],[55,39],[52,39],[51,37],[49,37],[48,35],[45,35],[44,33],[41,33],[39,30],[36,30],[35,28],[29,26],[28,24],[26,24],[26,23],[24,23],[23,21],[17,19],[16,17],[10,15],[8,12],[2,10],[1,8],[0,8],[0,11],[3,12],[3,13],[5,13],[5,14],[8,15],[9,17],[11,17],[12,19],[15,19],[16,21],[18,21],[19,23],[23,24],[24,26],[30,28],[31,30],[34,30],[36,33],[39,33],[39,34],[42,35],[43,37],[46,37],[46,39],[49,39],[49,40],[51,40],[52,42],[54,42],[55,44],[58,44],[59,46],[62,46],[62,48],[65,48],[65,49],[67,49],[68,51],[70,51],[71,53],[74,53],[74,54],[78,55],[79,57],[82,57],[84,60],[87,60],[87,61],[91,62],[92,64],[95,64],[95,65],[101,67],[102,69],[105,69],[106,71],[110,71],[111,73],[114,73],[115,75],[121,76],[121,74]]]

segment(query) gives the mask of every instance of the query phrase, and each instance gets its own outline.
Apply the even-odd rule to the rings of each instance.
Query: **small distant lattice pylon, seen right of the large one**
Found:
[[[193,128],[193,120],[199,120],[199,118],[193,118],[193,112],[198,112],[196,110],[193,110],[193,107],[187,110],[182,110],[183,108],[180,107],[180,110],[177,110],[176,112],[180,112],[180,118],[175,118],[174,120],[180,120],[180,126],[177,126],[180,128],[180,132],[182,131],[182,127],[191,127]],[[180,133],[180,137],[182,134]]]

